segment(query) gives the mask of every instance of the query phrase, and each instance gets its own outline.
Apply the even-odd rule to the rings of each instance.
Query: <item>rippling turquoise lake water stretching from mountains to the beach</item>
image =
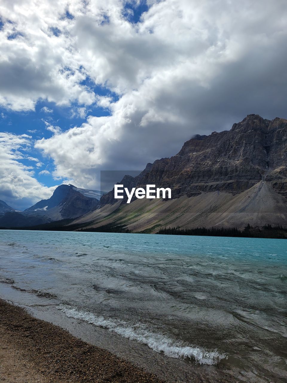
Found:
[[[167,380],[286,381],[286,240],[1,230],[0,282]]]

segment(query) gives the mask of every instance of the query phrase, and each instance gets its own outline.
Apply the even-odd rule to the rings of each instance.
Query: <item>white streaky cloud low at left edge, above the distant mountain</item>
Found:
[[[22,152],[29,151],[31,146],[31,137],[26,134],[0,133],[0,200],[16,210],[49,198],[55,189],[39,183],[34,177],[33,166],[21,162],[37,160]]]

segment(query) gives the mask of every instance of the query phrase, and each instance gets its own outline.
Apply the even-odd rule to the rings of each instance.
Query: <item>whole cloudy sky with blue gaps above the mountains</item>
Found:
[[[287,118],[285,0],[2,0],[0,200],[99,190],[194,134]]]

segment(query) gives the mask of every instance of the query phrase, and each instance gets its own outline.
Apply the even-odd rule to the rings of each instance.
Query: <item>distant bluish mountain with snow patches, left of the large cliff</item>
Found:
[[[95,210],[99,198],[103,194],[97,190],[60,185],[47,200],[41,200],[22,212],[7,211],[0,217],[0,227],[34,226],[61,219],[76,218]]]

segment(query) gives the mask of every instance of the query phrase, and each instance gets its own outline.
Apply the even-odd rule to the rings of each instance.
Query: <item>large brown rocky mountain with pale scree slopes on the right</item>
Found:
[[[172,200],[100,199],[101,208],[73,223],[85,228],[123,225],[155,232],[165,226],[287,224],[287,120],[248,115],[229,131],[196,135],[171,158],[147,164],[137,177],[125,176],[129,190],[155,184],[170,187]],[[88,222],[88,225],[86,224]]]

